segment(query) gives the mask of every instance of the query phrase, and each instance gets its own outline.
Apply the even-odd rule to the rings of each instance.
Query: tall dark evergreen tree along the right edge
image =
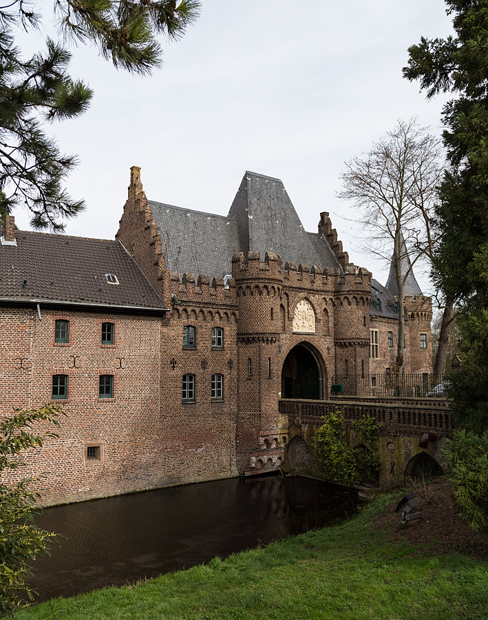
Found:
[[[452,378],[458,422],[488,428],[488,0],[446,0],[455,35],[421,38],[404,76],[427,98],[455,95],[443,109],[450,164],[436,216],[443,231],[434,278],[461,307],[462,371]]]

